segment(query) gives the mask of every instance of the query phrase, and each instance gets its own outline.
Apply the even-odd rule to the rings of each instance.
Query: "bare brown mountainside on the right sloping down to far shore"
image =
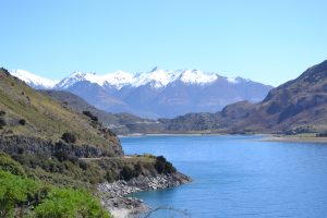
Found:
[[[258,104],[241,101],[217,113],[160,120],[168,132],[304,133],[327,131],[327,61],[269,92]]]

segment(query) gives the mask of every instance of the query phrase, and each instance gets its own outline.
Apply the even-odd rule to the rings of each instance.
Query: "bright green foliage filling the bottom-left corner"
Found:
[[[109,218],[111,215],[85,189],[53,187],[0,170],[0,217]]]

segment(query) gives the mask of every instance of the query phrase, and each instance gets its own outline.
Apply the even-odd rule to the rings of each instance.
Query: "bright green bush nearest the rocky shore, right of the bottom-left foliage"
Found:
[[[75,218],[93,217],[109,218],[110,215],[102,209],[98,199],[85,190],[53,189],[35,208],[37,218]]]

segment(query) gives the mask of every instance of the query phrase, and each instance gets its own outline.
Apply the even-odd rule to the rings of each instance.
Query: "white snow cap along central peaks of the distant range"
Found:
[[[233,84],[238,83],[240,80],[240,77],[223,77],[217,73],[207,73],[199,70],[169,71],[155,68],[150,72],[135,74],[124,71],[117,71],[105,75],[74,72],[69,77],[60,81],[60,83],[56,85],[56,88],[66,89],[82,81],[95,83],[99,86],[111,86],[117,89],[121,89],[125,86],[140,87],[147,84],[150,84],[153,88],[162,88],[175,81],[181,81],[184,84],[206,85],[218,78],[228,80],[228,82]]]

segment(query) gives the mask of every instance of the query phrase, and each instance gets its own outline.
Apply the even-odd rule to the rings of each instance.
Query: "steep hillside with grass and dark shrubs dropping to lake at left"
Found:
[[[125,157],[119,138],[108,128],[102,126],[95,114],[89,111],[77,112],[66,104],[34,90],[24,82],[11,76],[4,69],[0,69],[1,170],[20,178],[41,181],[43,185],[49,185],[51,189],[87,189],[94,194],[98,193],[99,183],[171,178],[178,173],[164,157]],[[14,177],[5,173],[3,177]],[[178,181],[178,178],[175,180]],[[186,181],[190,180],[184,182]],[[2,189],[1,192],[10,192],[8,189]],[[28,189],[23,191],[28,192]],[[21,210],[34,214],[33,208],[40,207],[43,199],[52,196],[47,190],[41,191],[41,194],[37,192],[33,196],[27,194],[28,197],[24,199],[10,202],[13,216],[19,216],[15,213]],[[84,195],[84,191],[63,191],[65,192],[72,197],[74,194]],[[88,197],[87,194],[85,196]],[[123,196],[121,199],[125,201]],[[0,201],[1,204],[9,203],[5,195],[1,194]],[[33,205],[29,204],[31,201]],[[116,204],[114,199],[111,202]],[[80,206],[77,201],[73,210],[81,213]],[[55,213],[59,211],[56,207],[52,209]],[[0,215],[2,216],[1,208]],[[66,215],[58,215],[62,216]]]

